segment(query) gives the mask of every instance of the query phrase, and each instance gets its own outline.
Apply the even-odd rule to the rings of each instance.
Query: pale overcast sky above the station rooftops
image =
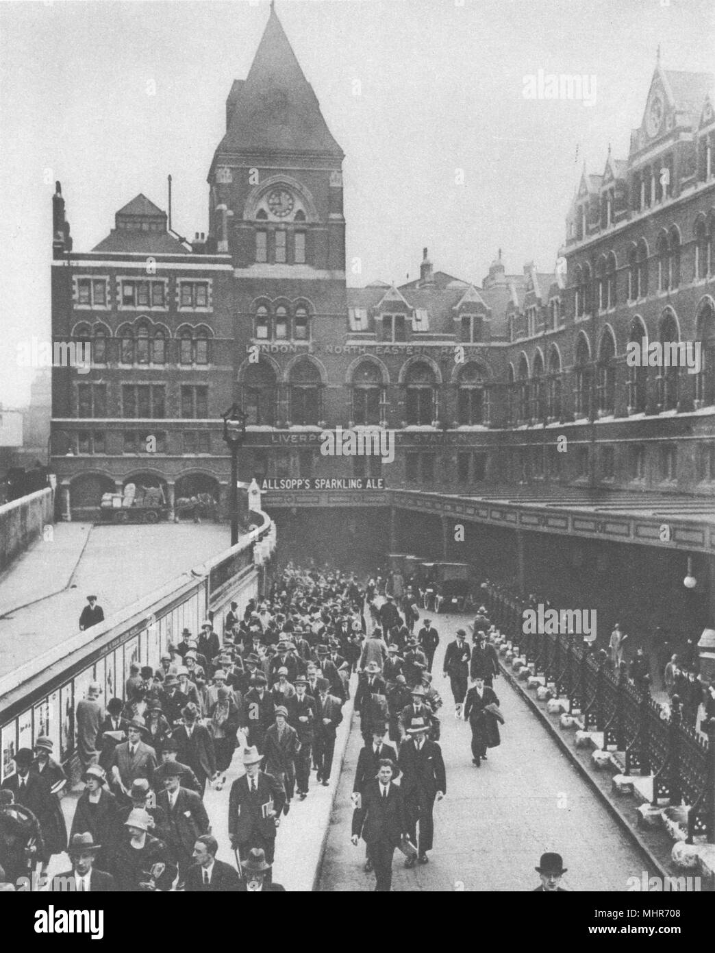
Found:
[[[706,71],[713,0],[278,0],[346,153],[349,284],[437,269],[481,283],[497,248],[553,267],[586,160],[626,158],[656,49]],[[189,237],[208,228],[209,163],[268,2],[0,3],[0,401],[27,400],[17,343],[50,337],[51,205],[75,251],[142,192]],[[595,103],[527,99],[525,76],[595,76]],[[153,83],[151,82],[153,81]],[[149,92],[155,88],[155,94]],[[358,94],[356,94],[358,93]],[[455,184],[463,170],[464,184]]]

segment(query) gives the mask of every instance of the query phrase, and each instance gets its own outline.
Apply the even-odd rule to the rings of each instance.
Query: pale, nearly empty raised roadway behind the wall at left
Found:
[[[105,617],[228,549],[221,523],[57,523],[0,577],[0,678],[79,631],[95,593]]]

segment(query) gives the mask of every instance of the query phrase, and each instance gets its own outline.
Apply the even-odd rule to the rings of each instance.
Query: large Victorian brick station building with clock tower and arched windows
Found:
[[[271,9],[228,92],[208,234],[187,242],[139,195],[75,253],[54,197],[52,332],[89,340],[93,364],[53,375],[64,512],[89,516],[129,479],[169,501],[196,489],[224,500],[219,417],[235,399],[248,414],[240,478],[267,481],[284,539],[318,553],[338,540],[344,554],[437,540],[522,585],[559,560],[574,585],[606,564],[616,579],[636,566],[682,579],[691,555],[703,579],[691,615],[711,617],[713,89],[710,74],[656,64],[627,158],[607,150],[601,173],[584,171],[552,272],[507,274],[500,250],[472,280],[435,270],[426,248],[418,279],[348,288],[343,152]],[[700,342],[700,373],[628,367],[627,343],[644,338]],[[322,456],[322,431],[338,425],[394,430],[394,462]],[[363,482],[315,482],[348,478]],[[422,505],[410,490],[441,494],[431,515],[410,517]],[[465,504],[474,533],[455,551],[450,497],[512,500],[515,515]],[[607,518],[529,523],[537,502]],[[650,526],[658,507],[666,538]]]

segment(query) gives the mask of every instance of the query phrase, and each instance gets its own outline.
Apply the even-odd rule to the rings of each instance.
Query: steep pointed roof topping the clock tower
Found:
[[[328,152],[343,157],[272,7],[246,81],[233,84],[229,99],[234,96],[218,152]]]

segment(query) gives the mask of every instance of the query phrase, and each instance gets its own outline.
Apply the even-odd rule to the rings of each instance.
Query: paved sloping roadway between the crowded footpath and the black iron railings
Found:
[[[471,733],[454,719],[442,659],[447,642],[466,617],[438,616],[440,646],[434,660],[435,687],[445,701],[441,745],[447,765],[447,797],[435,805],[434,850],[426,866],[406,870],[395,852],[395,891],[526,891],[539,885],[534,866],[540,855],[556,851],[568,868],[563,886],[573,891],[625,891],[629,877],[648,877],[644,860],[613,821],[571,761],[548,737],[505,679],[495,679],[506,724],[502,744],[488,752],[480,768],[471,763]],[[362,745],[356,719],[338,785],[320,890],[374,889],[374,875],[363,873],[365,844],[350,843],[349,796]]]

